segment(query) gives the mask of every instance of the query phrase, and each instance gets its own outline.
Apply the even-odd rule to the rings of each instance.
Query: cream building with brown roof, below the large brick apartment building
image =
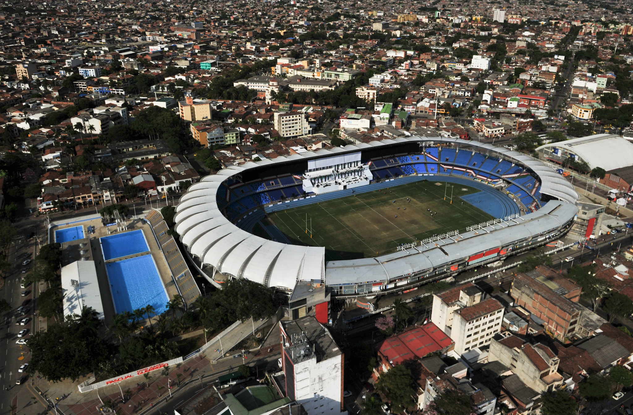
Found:
[[[501,362],[536,392],[556,390],[563,384],[563,376],[558,373],[559,359],[548,346],[529,344],[510,332],[492,337],[488,361]]]

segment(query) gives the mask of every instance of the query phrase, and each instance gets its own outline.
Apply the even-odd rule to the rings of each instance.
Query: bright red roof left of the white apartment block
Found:
[[[397,366],[409,359],[423,358],[451,344],[453,340],[450,337],[434,323],[428,323],[383,340],[379,345],[379,352]]]

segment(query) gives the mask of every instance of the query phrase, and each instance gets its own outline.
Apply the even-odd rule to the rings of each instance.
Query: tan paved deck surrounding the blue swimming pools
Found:
[[[112,294],[110,292],[110,282],[108,281],[108,275],[106,274],[106,267],[103,260],[103,253],[101,252],[101,246],[99,244],[99,238],[103,236],[108,236],[108,229],[106,229],[106,227],[101,224],[101,219],[94,219],[94,220],[82,222],[82,226],[84,226],[84,233],[86,233],[85,229],[87,229],[87,227],[91,225],[95,227],[94,234],[85,234],[84,236],[86,236],[86,238],[88,238],[90,241],[92,259],[94,260],[94,265],[97,270],[97,280],[99,280],[99,291],[101,292],[101,301],[103,303],[103,310],[104,310],[103,314],[104,314],[106,325],[109,326],[112,323],[113,316],[115,315],[115,306],[114,306],[114,301],[112,299]],[[73,226],[77,226],[77,224],[54,227],[53,229],[49,230],[49,232],[51,232],[52,233],[51,236],[54,237],[54,232],[56,230],[63,229],[66,227],[73,227]],[[116,231],[116,226],[110,226],[108,228],[110,228],[110,232],[111,232],[110,235],[122,233],[122,232]],[[169,299],[172,299],[174,294],[178,294],[178,289],[173,282],[172,273],[165,261],[165,256],[163,256],[163,254],[161,253],[160,247],[158,246],[158,243],[156,242],[156,238],[154,238],[154,234],[152,233],[149,225],[143,222],[141,219],[130,219],[127,221],[127,231],[123,231],[123,232],[135,231],[137,229],[141,229],[143,231],[143,234],[147,241],[147,245],[149,246],[149,252],[153,256],[154,263],[156,263],[156,267],[158,268],[158,274],[160,275],[161,280],[163,280],[163,284],[165,284],[165,288],[167,290],[167,297]],[[51,239],[51,240],[54,240],[54,239]],[[81,241],[85,241],[85,239],[72,241],[72,244],[74,243],[78,244]],[[69,243],[63,244],[64,248],[66,247],[67,244]],[[68,255],[70,252],[72,251],[67,252],[67,250],[63,250],[63,256],[62,256],[63,265],[67,265],[68,263],[72,263],[77,260],[75,258],[75,255]],[[116,260],[119,261],[119,260],[123,260],[127,258],[133,258],[134,256],[140,256],[140,255],[144,255],[144,254],[139,253],[139,254],[130,255],[130,256],[123,256],[122,258],[116,258]],[[110,260],[108,262],[113,262],[113,261]]]

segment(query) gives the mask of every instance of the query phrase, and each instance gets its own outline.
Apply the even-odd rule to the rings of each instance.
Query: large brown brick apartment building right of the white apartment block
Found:
[[[579,328],[577,323],[583,312],[583,307],[578,304],[580,291],[572,280],[539,267],[518,274],[512,282],[510,295],[515,305],[540,318],[550,335],[564,341]]]

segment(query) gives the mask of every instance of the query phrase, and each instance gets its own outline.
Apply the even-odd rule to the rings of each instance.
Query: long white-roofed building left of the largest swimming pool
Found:
[[[61,268],[64,316],[80,315],[84,306],[92,307],[103,320],[103,303],[94,261],[75,261]]]

